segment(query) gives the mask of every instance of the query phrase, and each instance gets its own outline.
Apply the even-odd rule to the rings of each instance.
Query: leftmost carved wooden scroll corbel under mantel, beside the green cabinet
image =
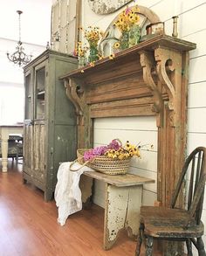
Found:
[[[65,93],[69,98],[69,100],[72,101],[76,109],[76,114],[83,115],[84,103],[83,103],[83,100],[79,98],[79,95],[77,93],[77,85],[75,84],[75,82],[72,79],[65,80],[65,88],[66,88]]]

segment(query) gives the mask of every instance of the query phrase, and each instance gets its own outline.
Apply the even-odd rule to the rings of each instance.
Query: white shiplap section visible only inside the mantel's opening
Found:
[[[155,117],[127,117],[127,118],[100,118],[94,120],[94,147],[108,144],[115,138],[119,138],[124,144],[131,142],[136,145],[146,145],[141,150],[141,159],[134,157],[130,172],[148,176],[156,180],[157,171],[157,128]],[[149,145],[154,145],[150,149]],[[94,203],[104,207],[104,183],[95,183]],[[155,184],[147,184],[144,187],[143,202],[154,204],[156,199]]]

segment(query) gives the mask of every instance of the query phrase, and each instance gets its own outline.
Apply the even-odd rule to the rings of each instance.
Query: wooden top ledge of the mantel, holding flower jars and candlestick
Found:
[[[91,72],[100,71],[101,69],[106,70],[106,66],[108,69],[110,69],[112,65],[111,61],[113,61],[113,65],[115,65],[118,61],[122,62],[126,59],[130,59],[130,57],[132,58],[132,56],[134,56],[135,53],[141,51],[153,52],[154,49],[158,47],[168,48],[170,50],[180,52],[189,52],[191,50],[196,49],[196,44],[179,38],[173,38],[168,35],[159,35],[154,38],[150,38],[146,41],[143,41],[140,44],[135,45],[131,48],[116,53],[114,59],[112,60],[106,57],[104,59],[96,61],[95,66],[87,65],[79,69],[72,70],[72,72],[70,73],[65,73],[65,75],[59,77],[59,80],[83,79],[87,75],[90,75]]]

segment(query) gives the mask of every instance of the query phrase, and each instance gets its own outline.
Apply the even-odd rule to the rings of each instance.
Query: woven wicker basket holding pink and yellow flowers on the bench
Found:
[[[88,149],[78,149],[77,156],[80,164],[84,163],[84,153]],[[126,174],[129,169],[130,158],[127,159],[112,159],[106,156],[95,156],[93,160],[88,161],[86,165],[93,170],[100,171],[108,175]]]

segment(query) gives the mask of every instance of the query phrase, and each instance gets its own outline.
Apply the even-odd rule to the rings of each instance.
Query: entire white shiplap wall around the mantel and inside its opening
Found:
[[[90,10],[87,1],[83,2],[82,23],[98,25],[106,30],[111,23],[114,14],[99,16]],[[136,1],[137,2],[137,1]],[[196,43],[196,50],[189,53],[189,108],[188,108],[188,147],[189,154],[196,146],[206,146],[206,1],[204,0],[139,0],[140,5],[146,6],[165,22],[168,35],[172,33],[172,16],[178,15],[179,38]],[[120,11],[119,11],[120,12]],[[94,146],[106,144],[113,138],[120,138],[122,142],[154,143],[154,151],[142,151],[142,159],[133,161],[131,171],[144,176],[156,178],[156,140],[157,130],[154,117],[135,117],[102,119],[94,121]],[[104,187],[96,183],[94,201],[103,205]],[[97,190],[98,188],[98,190]],[[153,204],[156,198],[156,187],[147,185],[144,187],[143,204]],[[206,196],[203,205],[203,222],[206,226]],[[206,245],[206,232],[204,235]],[[196,250],[195,252],[196,253]],[[197,254],[196,254],[197,255]]]

